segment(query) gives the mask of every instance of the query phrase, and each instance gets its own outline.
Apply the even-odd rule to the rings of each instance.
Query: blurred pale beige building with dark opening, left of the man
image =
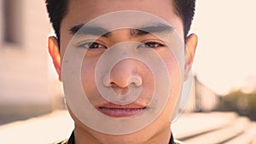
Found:
[[[55,108],[50,32],[44,0],[0,0],[0,124]]]

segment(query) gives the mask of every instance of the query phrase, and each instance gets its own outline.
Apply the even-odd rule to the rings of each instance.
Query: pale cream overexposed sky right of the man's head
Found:
[[[256,88],[256,1],[197,0],[194,73],[219,95]]]

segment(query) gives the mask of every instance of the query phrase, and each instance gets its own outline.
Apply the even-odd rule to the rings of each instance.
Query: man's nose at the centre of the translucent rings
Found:
[[[143,84],[143,79],[137,72],[137,60],[133,59],[125,59],[116,63],[108,76],[105,76],[104,84],[115,89],[127,89],[129,86],[140,87]]]

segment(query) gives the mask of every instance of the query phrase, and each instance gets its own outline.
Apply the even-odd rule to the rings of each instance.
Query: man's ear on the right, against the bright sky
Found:
[[[189,77],[189,71],[195,58],[196,46],[197,36],[195,34],[190,34],[189,37],[186,38],[184,81]]]

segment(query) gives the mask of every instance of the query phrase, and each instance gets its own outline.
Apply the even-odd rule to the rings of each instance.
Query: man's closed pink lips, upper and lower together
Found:
[[[147,107],[136,103],[129,105],[116,105],[113,103],[106,103],[98,107],[98,111],[113,118],[127,118],[136,116],[137,114],[145,111]]]

